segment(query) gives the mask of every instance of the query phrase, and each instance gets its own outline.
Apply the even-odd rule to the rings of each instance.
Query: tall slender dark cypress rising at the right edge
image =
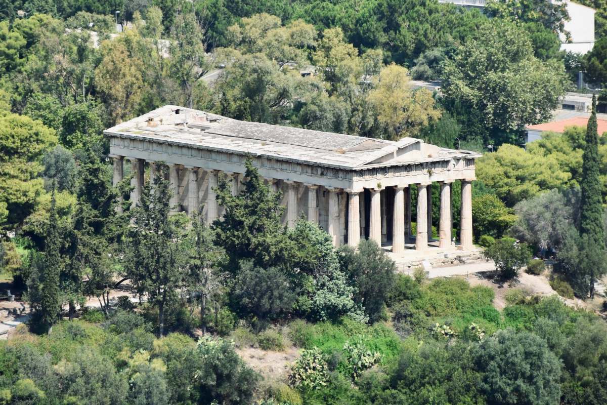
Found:
[[[592,97],[592,114],[586,128],[586,145],[584,146],[582,163],[582,203],[580,206],[580,236],[585,246],[582,249],[601,254],[605,251],[605,237],[603,235],[603,203],[602,184],[599,178],[599,134],[597,131],[597,100]],[[603,252],[603,253],[602,253]],[[589,292],[594,296],[594,282],[605,268],[586,268]]]

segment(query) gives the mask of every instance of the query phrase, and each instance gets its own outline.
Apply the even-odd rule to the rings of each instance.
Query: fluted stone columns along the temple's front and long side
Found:
[[[131,179],[131,206],[136,205],[141,197],[141,190],[144,185],[144,163],[143,159],[131,159],[131,168],[135,173]],[[149,162],[151,181],[155,175],[155,163]],[[207,170],[185,166],[187,172],[188,195],[186,196],[188,205],[188,214],[192,216],[200,206],[198,200],[198,179],[202,176],[198,171],[206,171],[207,173],[207,190],[206,190],[206,209],[207,221],[211,223],[219,217],[219,205],[215,188],[219,184],[220,171]],[[169,182],[171,184],[171,207],[172,212],[179,210],[180,203],[180,184],[179,184],[179,167],[177,165],[169,165]],[[237,173],[224,172],[231,175],[231,192],[236,196],[238,192],[238,176]],[[123,179],[123,157],[114,157],[114,185],[117,185]],[[276,179],[268,179],[272,192],[278,192]],[[299,211],[297,209],[297,189],[296,182],[285,181],[287,185],[287,224],[294,226],[297,222]],[[451,243],[451,185],[452,182],[440,183],[440,220],[439,220],[439,247],[447,248]],[[318,205],[318,185],[306,184],[308,191],[308,220],[319,222],[319,205]],[[393,215],[392,215],[392,251],[393,253],[403,253],[405,243],[410,237],[411,231],[411,199],[410,188],[417,187],[417,218],[416,218],[416,235],[415,249],[419,251],[427,250],[428,241],[431,239],[432,224],[432,183],[420,183],[409,186],[395,186]],[[345,207],[339,205],[339,195],[342,194],[342,189],[326,187],[329,192],[328,196],[328,234],[333,239],[335,246],[339,245],[341,235],[343,233],[342,224],[340,221],[340,212]],[[375,240],[379,245],[385,242],[387,235],[382,234],[382,230],[387,230],[386,226],[386,202],[382,201],[381,189],[369,189],[371,193],[370,209],[369,209],[369,239]],[[365,210],[361,209],[361,193],[362,191],[347,191],[348,197],[348,217],[347,217],[347,235],[348,245],[357,246],[361,236],[361,216],[364,217]],[[345,194],[342,194],[345,196]],[[121,210],[121,204],[118,204],[118,210]],[[364,220],[364,219],[363,219]],[[461,180],[461,247],[464,250],[472,248],[472,180]]]

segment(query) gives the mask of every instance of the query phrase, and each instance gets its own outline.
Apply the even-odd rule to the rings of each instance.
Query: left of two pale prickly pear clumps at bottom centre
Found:
[[[291,366],[289,383],[300,389],[320,389],[327,385],[328,364],[320,349],[304,349]]]

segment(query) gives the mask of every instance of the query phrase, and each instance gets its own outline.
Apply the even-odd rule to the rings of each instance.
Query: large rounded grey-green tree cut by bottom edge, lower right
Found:
[[[500,330],[472,353],[482,374],[479,388],[492,404],[555,404],[561,365],[543,339],[530,332]]]

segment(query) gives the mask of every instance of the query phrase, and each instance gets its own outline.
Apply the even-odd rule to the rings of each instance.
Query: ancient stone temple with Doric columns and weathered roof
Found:
[[[104,133],[114,158],[114,183],[131,162],[132,204],[137,204],[155,162],[169,165],[175,211],[202,210],[208,222],[221,216],[214,189],[220,177],[238,192],[245,160],[253,159],[273,191],[282,190],[283,220],[319,223],[334,244],[370,238],[402,253],[454,248],[452,185],[461,180],[459,248],[472,248],[472,180],[480,154],[429,145],[416,138],[386,141],[308,129],[232,120],[178,106],[164,106]],[[146,175],[146,167],[148,175]],[[150,178],[150,177],[148,177]],[[432,230],[432,183],[440,185],[438,245]],[[411,194],[416,226],[412,234]]]

